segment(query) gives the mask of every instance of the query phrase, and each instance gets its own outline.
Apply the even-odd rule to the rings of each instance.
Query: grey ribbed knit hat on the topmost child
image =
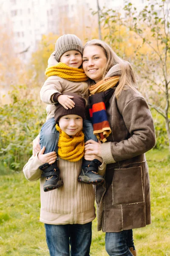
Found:
[[[61,56],[70,50],[79,51],[81,54],[83,52],[83,46],[81,40],[77,37],[77,35],[62,35],[56,41],[55,46],[55,56],[57,61],[59,62]]]

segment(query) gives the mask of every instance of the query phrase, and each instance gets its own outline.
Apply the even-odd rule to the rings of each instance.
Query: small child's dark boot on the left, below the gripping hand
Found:
[[[45,192],[57,189],[63,185],[63,181],[60,177],[59,168],[57,163],[49,164],[44,163],[39,166],[39,169],[43,171],[41,177],[46,177],[43,189]]]

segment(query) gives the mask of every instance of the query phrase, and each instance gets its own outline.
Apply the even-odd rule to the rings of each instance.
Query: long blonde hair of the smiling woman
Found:
[[[93,39],[91,41],[88,41],[85,46],[91,46],[91,45],[97,45],[99,47],[102,47],[103,52],[105,53],[105,56],[107,58],[107,63],[105,66],[105,69],[103,70],[103,78],[106,76],[108,71],[116,64],[119,64],[121,67],[121,76],[119,80],[119,84],[116,87],[115,90],[115,96],[118,99],[120,96],[120,93],[124,89],[125,85],[128,85],[133,90],[136,90],[136,79],[133,73],[133,68],[131,64],[128,61],[123,61],[119,56],[116,55],[116,53],[111,49],[111,47],[106,44],[104,41],[99,39]]]

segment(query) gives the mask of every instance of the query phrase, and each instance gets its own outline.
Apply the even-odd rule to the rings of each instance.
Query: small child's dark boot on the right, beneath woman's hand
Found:
[[[91,161],[88,167],[82,168],[82,171],[78,177],[78,181],[97,186],[104,184],[105,179],[97,172],[98,166],[101,164],[102,163],[97,159]]]

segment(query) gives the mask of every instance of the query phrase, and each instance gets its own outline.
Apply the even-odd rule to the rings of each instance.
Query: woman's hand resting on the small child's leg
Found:
[[[92,161],[94,159],[98,159],[102,162],[102,151],[101,151],[102,143],[96,142],[94,140],[88,140],[85,143],[85,160]]]

